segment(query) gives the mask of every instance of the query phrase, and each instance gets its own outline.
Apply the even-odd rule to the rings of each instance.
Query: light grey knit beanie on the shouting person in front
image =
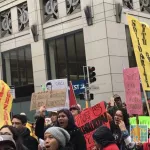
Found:
[[[65,147],[70,140],[69,133],[60,127],[50,127],[45,131],[45,134],[46,133],[50,133],[56,140],[59,141],[62,147]]]

